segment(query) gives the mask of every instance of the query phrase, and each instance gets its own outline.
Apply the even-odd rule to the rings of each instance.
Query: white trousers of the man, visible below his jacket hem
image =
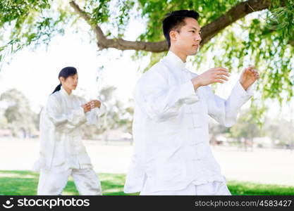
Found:
[[[225,182],[213,181],[207,184],[190,184],[186,188],[178,191],[156,191],[151,192],[148,191],[149,187],[145,182],[143,190],[140,192],[140,196],[143,195],[153,195],[153,196],[178,196],[178,195],[186,195],[186,196],[200,196],[200,195],[223,195],[223,196],[231,196],[231,192],[228,190]]]

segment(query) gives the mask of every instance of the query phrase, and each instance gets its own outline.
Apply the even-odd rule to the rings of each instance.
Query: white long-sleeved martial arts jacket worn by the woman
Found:
[[[68,95],[62,87],[49,96],[40,116],[40,155],[33,171],[44,169],[63,172],[92,167],[82,143],[81,126],[99,126],[99,116],[105,109],[101,104],[100,108],[85,113],[81,107],[84,103],[84,98]]]

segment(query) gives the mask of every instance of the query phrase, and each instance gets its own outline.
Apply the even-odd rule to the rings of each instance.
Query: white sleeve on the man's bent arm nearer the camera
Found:
[[[134,98],[140,109],[157,122],[176,117],[184,103],[199,100],[190,79],[171,86],[155,71],[148,72],[137,82]]]

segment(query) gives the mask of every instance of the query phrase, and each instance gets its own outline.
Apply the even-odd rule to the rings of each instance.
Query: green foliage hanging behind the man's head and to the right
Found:
[[[240,2],[140,1],[142,14],[148,19],[147,30],[140,39],[158,41],[164,38],[161,21],[157,21],[163,18],[162,8],[166,12],[195,9],[200,12],[199,21],[203,26]],[[285,5],[281,6],[280,1],[272,1],[269,10],[253,13],[226,27],[192,58],[195,68],[207,63],[207,58],[213,60],[209,63],[210,67],[223,66],[231,72],[240,71],[244,65],[255,64],[261,72],[257,89],[262,91],[262,100],[278,98],[282,103],[283,97],[286,97],[289,101],[293,97],[294,84],[294,1],[284,2]],[[159,59],[157,55],[151,57],[154,58],[152,63]]]

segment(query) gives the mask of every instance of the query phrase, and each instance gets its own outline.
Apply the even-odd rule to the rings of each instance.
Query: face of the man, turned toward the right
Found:
[[[195,55],[200,47],[200,25],[194,18],[185,18],[185,25],[171,34],[171,45],[187,56]]]

